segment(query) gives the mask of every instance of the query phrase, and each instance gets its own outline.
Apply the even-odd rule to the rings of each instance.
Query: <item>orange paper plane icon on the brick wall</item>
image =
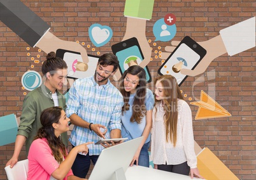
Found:
[[[200,101],[191,102],[190,104],[199,106],[195,117],[196,120],[231,116],[231,113],[227,112],[203,90],[201,91]]]

